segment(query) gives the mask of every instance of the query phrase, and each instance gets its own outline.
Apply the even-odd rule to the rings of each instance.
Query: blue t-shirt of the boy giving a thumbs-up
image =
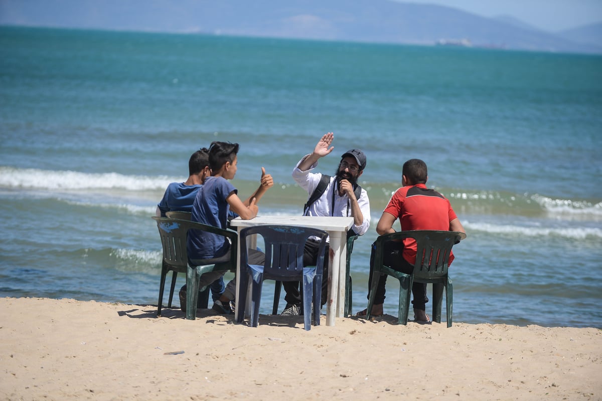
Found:
[[[192,221],[226,229],[230,205],[226,198],[237,189],[223,177],[207,177],[194,198]],[[200,230],[188,231],[188,259],[213,259],[224,256],[230,248],[229,241],[216,234]]]

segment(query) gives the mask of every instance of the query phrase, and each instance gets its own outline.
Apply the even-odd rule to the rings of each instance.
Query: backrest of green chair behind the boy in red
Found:
[[[456,231],[414,230],[385,234],[377,242],[414,238],[417,244],[414,280],[427,283],[447,277],[452,246],[465,237],[466,234]]]

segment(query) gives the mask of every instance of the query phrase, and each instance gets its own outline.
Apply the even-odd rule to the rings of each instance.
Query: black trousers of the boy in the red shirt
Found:
[[[412,274],[414,272],[414,265],[411,265],[407,260],[403,259],[403,242],[387,241],[383,244],[383,257],[382,263],[389,268],[402,272],[405,274]],[[370,253],[370,276],[368,277],[368,289],[371,288],[372,284],[372,272],[374,271],[374,254],[376,253],[376,242],[372,244],[372,251]],[[379,305],[385,302],[385,284],[388,275],[381,274],[378,287],[376,288],[376,294],[374,295],[374,305]],[[426,283],[414,283],[412,285],[412,305],[415,309],[426,309],[426,303],[429,302],[429,298],[426,296]],[[370,299],[370,293],[368,293],[368,299]]]

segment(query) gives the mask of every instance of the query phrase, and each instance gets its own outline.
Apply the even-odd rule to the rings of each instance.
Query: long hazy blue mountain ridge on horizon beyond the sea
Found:
[[[602,53],[600,43],[391,0],[0,0],[0,24]]]

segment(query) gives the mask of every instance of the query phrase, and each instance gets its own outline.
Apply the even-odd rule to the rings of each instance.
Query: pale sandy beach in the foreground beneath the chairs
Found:
[[[0,298],[2,400],[600,400],[602,331]]]

